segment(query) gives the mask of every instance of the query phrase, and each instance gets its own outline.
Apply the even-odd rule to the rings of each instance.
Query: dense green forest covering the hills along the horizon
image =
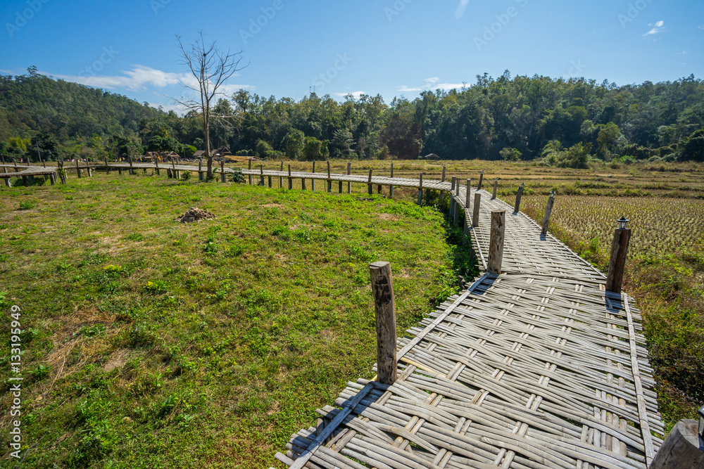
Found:
[[[409,101],[310,94],[301,101],[238,91],[213,110],[213,147],[260,158],[704,161],[704,82],[616,86],[589,79],[477,76],[463,89]],[[203,149],[201,116],[38,75],[0,76],[0,153],[115,158]]]

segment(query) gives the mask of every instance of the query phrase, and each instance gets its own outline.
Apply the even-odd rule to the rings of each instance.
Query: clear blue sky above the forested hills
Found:
[[[415,98],[484,72],[617,84],[704,77],[701,0],[3,0],[0,71],[40,73],[174,108],[175,35],[202,30],[247,65],[228,82],[299,100]]]

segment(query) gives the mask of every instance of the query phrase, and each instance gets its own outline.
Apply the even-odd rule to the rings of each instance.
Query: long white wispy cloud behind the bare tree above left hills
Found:
[[[144,91],[148,87],[164,88],[182,82],[189,86],[198,86],[198,82],[193,75],[188,73],[163,72],[145,65],[133,65],[132,70],[122,70],[122,75],[94,75],[84,77],[82,75],[52,75],[56,78],[65,79],[69,82],[76,82],[87,86],[105,89],[127,89],[130,91]],[[51,75],[42,72],[44,75]],[[225,94],[232,94],[239,89],[253,89],[254,86],[248,84],[227,84],[222,87]]]

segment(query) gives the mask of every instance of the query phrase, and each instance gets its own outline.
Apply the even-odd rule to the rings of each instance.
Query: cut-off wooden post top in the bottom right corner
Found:
[[[697,420],[679,420],[655,454],[649,469],[704,468]]]

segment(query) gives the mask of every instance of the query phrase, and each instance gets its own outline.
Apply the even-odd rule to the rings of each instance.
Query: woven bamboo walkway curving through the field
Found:
[[[384,179],[372,184],[419,184]],[[291,436],[280,461],[294,469],[650,464],[662,444],[653,433],[664,428],[632,298],[605,293],[603,274],[481,193],[474,248],[485,266],[490,212],[506,210],[504,274],[477,278],[408,330],[398,339],[396,383],[348,383],[318,410],[315,427]],[[465,197],[462,187],[455,203]],[[470,219],[472,207],[465,212]]]

